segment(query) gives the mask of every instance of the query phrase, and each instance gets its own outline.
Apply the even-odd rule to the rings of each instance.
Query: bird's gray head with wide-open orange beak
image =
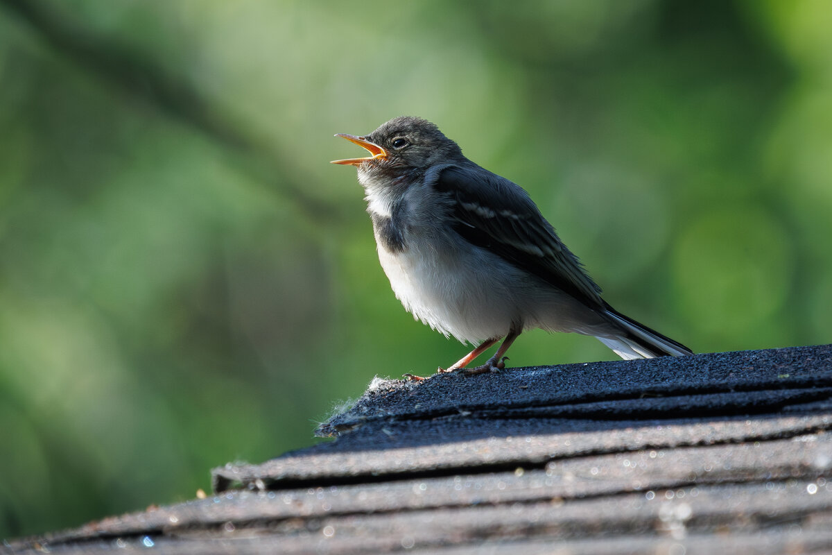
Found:
[[[413,170],[457,161],[463,157],[457,143],[444,136],[430,121],[401,116],[384,123],[367,136],[338,133],[347,141],[363,146],[370,156],[334,160],[333,164],[357,166],[359,175],[401,175]]]

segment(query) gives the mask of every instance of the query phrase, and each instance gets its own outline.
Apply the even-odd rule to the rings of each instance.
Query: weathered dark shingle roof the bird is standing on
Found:
[[[376,380],[333,442],[16,548],[820,553],[830,429],[832,345]]]

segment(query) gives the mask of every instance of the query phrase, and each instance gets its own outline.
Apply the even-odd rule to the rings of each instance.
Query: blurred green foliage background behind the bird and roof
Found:
[[[830,341],[824,0],[2,0],[0,83],[0,538],[192,498],[464,354],[327,163],[393,116],[526,187],[693,349]]]

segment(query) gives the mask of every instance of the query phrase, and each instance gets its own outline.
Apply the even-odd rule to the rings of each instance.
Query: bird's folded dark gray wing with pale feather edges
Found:
[[[465,240],[537,275],[584,305],[606,305],[601,288],[520,186],[473,162],[444,168],[434,186],[453,200],[453,227]]]

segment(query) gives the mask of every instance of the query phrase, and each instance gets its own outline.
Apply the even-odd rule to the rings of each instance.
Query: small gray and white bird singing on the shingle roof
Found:
[[[335,136],[369,151],[331,163],[358,171],[395,296],[414,319],[474,345],[438,372],[502,370],[514,340],[537,328],[591,335],[622,359],[693,354],[607,304],[528,193],[468,160],[435,124],[399,116],[366,136]]]

